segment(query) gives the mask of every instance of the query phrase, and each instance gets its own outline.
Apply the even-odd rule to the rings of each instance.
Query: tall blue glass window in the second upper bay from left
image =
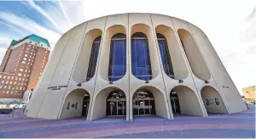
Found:
[[[126,72],[126,36],[118,33],[111,39],[108,80],[118,81]]]

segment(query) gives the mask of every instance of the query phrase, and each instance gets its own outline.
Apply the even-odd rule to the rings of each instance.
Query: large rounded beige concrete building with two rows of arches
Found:
[[[27,116],[43,119],[247,110],[206,34],[160,14],[114,14],[73,27],[34,92]]]

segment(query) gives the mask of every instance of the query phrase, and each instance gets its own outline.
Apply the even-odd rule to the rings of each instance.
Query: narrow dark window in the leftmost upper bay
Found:
[[[92,43],[91,52],[90,52],[90,62],[89,62],[89,66],[88,66],[86,81],[90,81],[90,79],[95,74],[101,40],[102,40],[102,36],[98,36]]]

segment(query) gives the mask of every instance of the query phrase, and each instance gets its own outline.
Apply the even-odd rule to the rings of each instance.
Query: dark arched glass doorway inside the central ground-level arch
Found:
[[[155,115],[154,96],[146,89],[138,90],[132,98],[133,115]]]

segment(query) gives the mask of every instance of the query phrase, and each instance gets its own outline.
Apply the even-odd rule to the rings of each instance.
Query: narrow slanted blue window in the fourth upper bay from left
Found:
[[[156,36],[157,36],[157,41],[160,49],[163,68],[166,72],[166,75],[168,75],[171,78],[174,78],[174,73],[172,69],[172,60],[169,53],[168,44],[166,42],[166,37],[159,33],[157,33]]]

